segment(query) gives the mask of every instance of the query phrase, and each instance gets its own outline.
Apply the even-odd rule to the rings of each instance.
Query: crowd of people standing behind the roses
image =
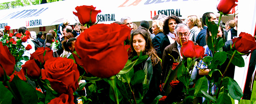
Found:
[[[202,15],[202,22],[200,17],[196,15],[190,15],[186,20],[181,20],[176,16],[155,15],[152,18],[152,26],[148,21],[142,20],[140,26],[136,26],[132,22],[131,18],[123,17],[121,21],[116,21],[117,24],[125,24],[131,28],[131,39],[129,45],[131,45],[131,52],[129,58],[133,59],[135,56],[139,56],[142,52],[143,55],[148,55],[152,61],[153,77],[149,84],[149,90],[146,94],[144,102],[146,104],[152,102],[155,97],[161,94],[162,88],[160,84],[164,83],[168,72],[174,69],[176,65],[183,59],[180,54],[182,43],[191,40],[195,45],[200,45],[205,48],[205,54],[212,57],[212,51],[207,46],[207,39],[211,36],[206,20],[215,21],[218,23],[218,19],[214,13],[207,12]],[[30,39],[22,44],[26,47],[30,44],[31,50],[27,50],[24,56],[30,56],[31,53],[39,47],[48,47],[53,50],[54,57],[70,57],[74,52],[74,43],[85,29],[86,26],[80,26],[79,23],[74,24],[74,29],[69,26],[69,22],[66,20],[58,26],[57,32],[50,30],[48,33],[42,33],[31,31]],[[20,27],[18,32],[25,34],[28,28]],[[0,32],[2,36],[2,32]],[[234,20],[229,20],[226,23],[221,22],[218,27],[217,37],[222,37],[226,41],[229,41],[237,37],[237,15]],[[53,42],[60,42],[58,47],[52,45]],[[225,48],[224,48],[225,49]],[[224,50],[225,51],[225,50]],[[133,61],[133,60],[132,60]],[[229,62],[227,59],[226,62]],[[23,62],[25,63],[25,62]],[[143,70],[145,61],[141,64],[134,66],[134,71]],[[203,64],[202,60],[195,64],[196,70],[193,71],[193,78],[198,76],[208,75],[210,69]],[[235,66],[229,66],[229,72],[227,76],[234,78]],[[221,71],[223,71],[221,69]],[[193,85],[191,85],[193,86]],[[175,87],[171,93],[173,95],[168,96],[168,102],[181,102],[184,100],[184,92],[182,87]],[[202,103],[202,100],[198,101]]]

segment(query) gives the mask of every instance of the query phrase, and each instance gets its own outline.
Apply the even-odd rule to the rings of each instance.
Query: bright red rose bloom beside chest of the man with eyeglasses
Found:
[[[185,58],[203,58],[204,48],[199,45],[195,45],[193,41],[189,40],[182,44],[181,55]]]

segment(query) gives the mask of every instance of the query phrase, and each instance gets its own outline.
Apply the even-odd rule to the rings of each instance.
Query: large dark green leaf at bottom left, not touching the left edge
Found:
[[[23,104],[36,104],[38,97],[36,90],[25,81],[14,75],[13,81],[10,83],[13,92]]]

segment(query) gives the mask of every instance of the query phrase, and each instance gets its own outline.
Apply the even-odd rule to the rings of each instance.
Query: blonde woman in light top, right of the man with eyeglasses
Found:
[[[190,15],[188,16],[186,23],[190,29],[189,40],[195,42],[198,33],[202,30],[202,23],[200,22],[200,18],[198,18],[196,15]]]

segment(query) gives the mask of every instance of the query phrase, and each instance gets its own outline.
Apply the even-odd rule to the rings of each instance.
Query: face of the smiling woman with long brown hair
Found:
[[[145,51],[146,40],[141,34],[134,35],[133,37],[133,48],[137,52],[138,56],[141,52]]]

